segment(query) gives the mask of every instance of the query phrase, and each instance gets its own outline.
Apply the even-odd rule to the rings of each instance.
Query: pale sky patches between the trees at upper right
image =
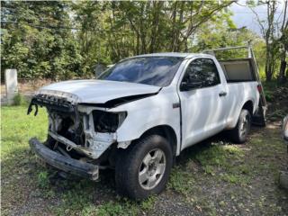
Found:
[[[232,20],[234,21],[234,23],[236,23],[238,28],[247,26],[247,29],[255,31],[257,32],[257,34],[260,34],[261,31],[260,31],[259,24],[257,23],[257,17],[255,14],[253,14],[251,9],[245,6],[245,2],[246,1],[238,1],[238,4],[232,4],[230,6],[229,9],[233,13]],[[280,1],[280,4],[276,12],[276,18],[280,16],[280,20],[281,20],[281,18],[283,17],[282,15],[283,10],[284,10],[284,4],[282,1]],[[266,20],[266,6],[265,5],[257,6],[255,8],[255,11],[257,12],[261,20]]]

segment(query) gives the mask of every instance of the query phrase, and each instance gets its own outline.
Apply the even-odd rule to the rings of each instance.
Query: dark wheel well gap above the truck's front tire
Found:
[[[169,125],[159,125],[149,130],[146,130],[140,138],[146,137],[151,134],[157,134],[163,136],[165,139],[168,140],[169,144],[171,145],[173,155],[176,155],[177,149],[177,136],[175,134],[175,130]]]

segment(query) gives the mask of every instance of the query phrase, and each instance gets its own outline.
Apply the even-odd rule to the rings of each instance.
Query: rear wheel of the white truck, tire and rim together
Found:
[[[235,143],[244,143],[247,141],[247,134],[251,129],[251,114],[243,109],[240,112],[238,122],[233,130],[229,131],[229,137]]]

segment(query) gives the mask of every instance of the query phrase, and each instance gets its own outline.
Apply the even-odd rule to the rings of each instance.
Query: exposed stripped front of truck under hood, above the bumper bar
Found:
[[[127,112],[108,112],[94,104],[73,103],[65,97],[36,94],[31,99],[28,114],[35,107],[46,107],[49,115],[49,146],[59,145],[61,153],[70,156],[71,152],[92,159],[117,143],[116,130],[125,120]]]

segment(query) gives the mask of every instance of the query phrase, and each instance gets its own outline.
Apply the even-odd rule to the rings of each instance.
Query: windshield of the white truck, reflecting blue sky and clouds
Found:
[[[182,60],[178,57],[129,58],[104,71],[98,79],[166,86],[170,85]]]

